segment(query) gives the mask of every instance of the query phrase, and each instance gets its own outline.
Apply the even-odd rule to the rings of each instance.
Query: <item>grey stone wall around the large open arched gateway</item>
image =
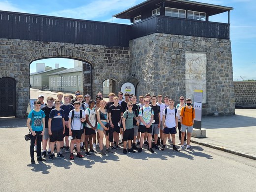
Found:
[[[0,78],[11,77],[16,84],[16,114],[26,115],[32,61],[52,57],[77,59],[92,65],[93,97],[103,91],[103,81],[116,81],[116,92],[129,77],[129,48],[0,39]]]

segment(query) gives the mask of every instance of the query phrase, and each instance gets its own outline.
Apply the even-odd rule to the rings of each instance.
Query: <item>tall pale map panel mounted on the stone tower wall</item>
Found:
[[[203,90],[203,103],[206,103],[206,53],[186,52],[185,59],[186,98],[193,102],[194,90]]]

